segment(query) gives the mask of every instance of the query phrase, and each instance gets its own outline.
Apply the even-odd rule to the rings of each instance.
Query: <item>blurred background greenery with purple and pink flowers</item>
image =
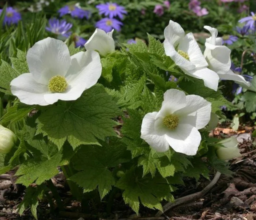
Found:
[[[117,47],[146,41],[147,32],[163,41],[170,19],[193,32],[204,50],[209,34],[203,26],[217,28],[232,51],[232,70],[252,83],[244,88],[223,80],[222,91],[234,104],[223,109],[230,119],[239,114],[240,122],[256,118],[255,0],[2,0],[0,8],[0,58],[7,62],[17,49],[27,51],[48,36],[83,47],[95,28],[114,28]]]

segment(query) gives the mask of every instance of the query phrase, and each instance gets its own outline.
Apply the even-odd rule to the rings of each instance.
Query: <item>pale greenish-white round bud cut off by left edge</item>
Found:
[[[0,153],[10,152],[17,141],[16,135],[6,127],[0,125]]]

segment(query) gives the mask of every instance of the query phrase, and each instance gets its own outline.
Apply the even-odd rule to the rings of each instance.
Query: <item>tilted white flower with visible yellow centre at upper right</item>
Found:
[[[192,33],[185,35],[183,28],[170,20],[164,29],[165,54],[175,62],[187,75],[204,81],[205,86],[217,90],[219,76],[207,68],[206,62]],[[176,51],[177,49],[177,51]]]

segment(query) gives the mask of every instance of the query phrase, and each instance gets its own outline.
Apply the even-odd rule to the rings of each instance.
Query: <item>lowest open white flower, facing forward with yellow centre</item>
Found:
[[[141,125],[141,138],[158,152],[195,155],[201,141],[198,129],[210,120],[211,103],[198,95],[185,95],[170,89],[164,93],[159,112],[147,113]]]

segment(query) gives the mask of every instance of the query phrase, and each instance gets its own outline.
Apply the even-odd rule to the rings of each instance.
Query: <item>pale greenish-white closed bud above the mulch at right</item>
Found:
[[[219,142],[224,147],[218,147],[216,150],[217,157],[220,160],[230,160],[242,156],[237,148],[238,141],[235,137],[224,139]]]

